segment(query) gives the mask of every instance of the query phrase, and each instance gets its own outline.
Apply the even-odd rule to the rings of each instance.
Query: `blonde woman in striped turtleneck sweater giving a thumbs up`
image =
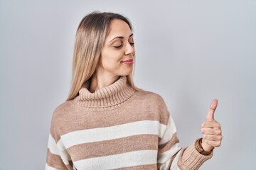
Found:
[[[213,114],[203,138],[181,148],[158,94],[137,89],[131,23],[117,13],[90,13],[75,38],[73,83],[53,113],[46,169],[198,169],[222,139]]]

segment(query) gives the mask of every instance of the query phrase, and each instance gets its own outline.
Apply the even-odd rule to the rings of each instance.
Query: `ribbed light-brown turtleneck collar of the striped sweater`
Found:
[[[107,108],[126,101],[134,94],[134,91],[127,84],[127,77],[120,77],[113,84],[97,89],[93,93],[87,87],[82,86],[79,95],[74,100],[88,108]]]

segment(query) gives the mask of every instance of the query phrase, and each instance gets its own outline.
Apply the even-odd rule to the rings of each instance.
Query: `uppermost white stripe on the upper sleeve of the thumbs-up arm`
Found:
[[[175,132],[176,132],[176,126],[175,126],[174,120],[171,118],[171,115],[170,115],[170,118],[166,127],[166,132],[164,132],[164,136],[161,136],[161,141],[159,142],[159,145],[169,142],[169,140],[171,140],[171,137],[174,135]]]

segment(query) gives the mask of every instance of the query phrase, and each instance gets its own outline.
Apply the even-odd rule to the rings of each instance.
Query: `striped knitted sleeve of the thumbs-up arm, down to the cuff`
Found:
[[[190,169],[195,170],[213,157],[213,153],[205,156],[200,154],[193,145],[181,148],[176,134],[174,120],[169,116],[168,124],[163,137],[159,141],[158,167],[160,170],[166,169]]]

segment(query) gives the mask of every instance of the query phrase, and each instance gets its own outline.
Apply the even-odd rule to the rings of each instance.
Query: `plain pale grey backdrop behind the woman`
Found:
[[[75,31],[92,11],[134,26],[135,84],[160,94],[182,147],[213,98],[223,143],[201,169],[256,169],[256,1],[0,0],[0,169],[44,169],[50,119],[70,89]]]

